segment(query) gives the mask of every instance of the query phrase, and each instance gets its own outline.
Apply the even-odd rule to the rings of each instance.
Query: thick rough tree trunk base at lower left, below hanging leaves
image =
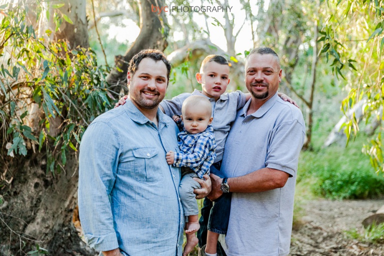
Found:
[[[65,171],[55,177],[46,174],[43,153],[30,155],[2,157],[1,178],[15,178],[1,191],[0,255],[24,255],[35,250],[35,244],[47,249],[49,255],[95,255],[71,223],[77,200],[75,154],[68,155]]]

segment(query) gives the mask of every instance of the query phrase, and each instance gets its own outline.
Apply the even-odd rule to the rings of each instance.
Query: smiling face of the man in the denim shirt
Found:
[[[138,64],[133,76],[128,73],[129,97],[133,104],[139,108],[152,109],[165,96],[167,69],[162,61],[143,58]]]

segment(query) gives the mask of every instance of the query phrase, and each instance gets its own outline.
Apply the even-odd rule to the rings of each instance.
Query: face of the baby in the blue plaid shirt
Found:
[[[194,105],[193,107],[189,105],[182,112],[181,118],[185,130],[191,134],[203,132],[213,120],[204,104]]]

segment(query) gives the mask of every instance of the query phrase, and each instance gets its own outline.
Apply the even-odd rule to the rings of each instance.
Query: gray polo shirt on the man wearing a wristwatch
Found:
[[[305,125],[301,111],[277,96],[246,115],[250,100],[237,112],[228,134],[221,170],[242,176],[269,167],[289,173],[282,188],[232,193],[228,256],[277,256],[289,253],[298,154]]]

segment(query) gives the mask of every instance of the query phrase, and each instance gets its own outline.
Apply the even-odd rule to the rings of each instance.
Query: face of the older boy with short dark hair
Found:
[[[197,82],[201,83],[202,94],[217,100],[229,83],[229,66],[210,61],[202,69],[202,72],[196,73]]]

